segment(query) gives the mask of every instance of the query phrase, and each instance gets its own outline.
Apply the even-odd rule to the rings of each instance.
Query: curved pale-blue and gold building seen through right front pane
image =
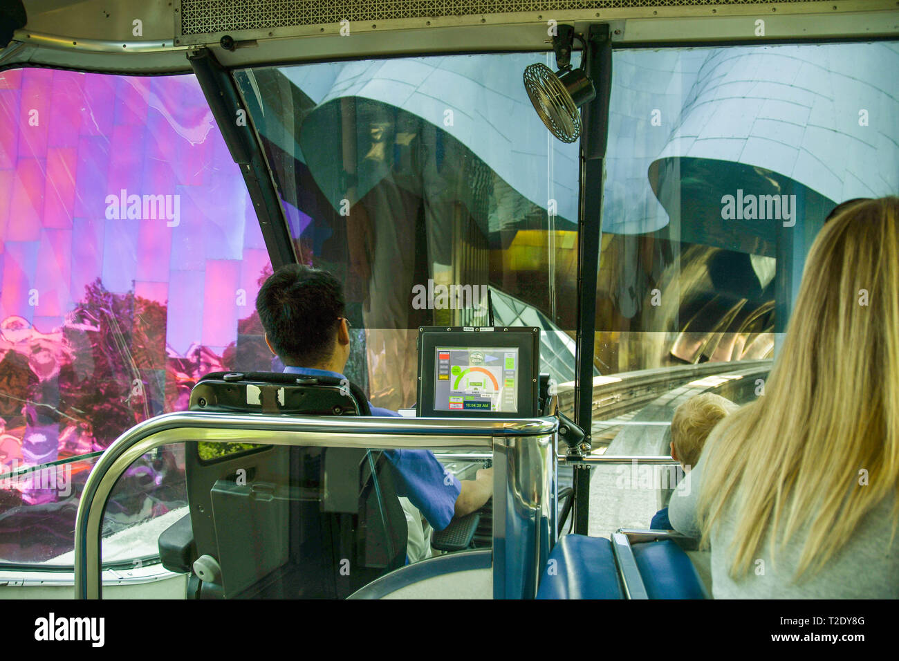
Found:
[[[899,189],[899,49],[627,50],[613,64],[602,371],[771,357],[826,215]]]

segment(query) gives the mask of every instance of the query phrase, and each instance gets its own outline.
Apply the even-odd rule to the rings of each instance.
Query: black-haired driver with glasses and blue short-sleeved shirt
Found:
[[[344,308],[341,282],[329,272],[301,264],[272,273],[256,297],[271,353],[284,363],[285,373],[305,376],[345,379],[350,326]],[[399,415],[378,406],[371,406],[371,414]],[[493,493],[493,469],[478,470],[475,480],[460,482],[431,451],[384,454],[395,469],[397,494],[407,497],[434,530],[446,528],[454,516],[474,512]]]

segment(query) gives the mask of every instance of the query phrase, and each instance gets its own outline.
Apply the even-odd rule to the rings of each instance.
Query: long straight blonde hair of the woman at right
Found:
[[[734,578],[767,533],[773,562],[806,525],[795,578],[814,575],[872,508],[899,495],[897,225],[896,197],[859,201],[824,225],[764,395],[708,439],[702,543],[733,506]],[[897,522],[899,499],[894,537]]]

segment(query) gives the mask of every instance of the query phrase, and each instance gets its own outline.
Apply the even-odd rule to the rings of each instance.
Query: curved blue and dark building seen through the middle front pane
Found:
[[[574,329],[577,147],[533,111],[535,61],[237,72],[298,255],[344,282],[360,329],[346,371],[377,406],[414,403],[418,326],[485,326],[487,288]]]

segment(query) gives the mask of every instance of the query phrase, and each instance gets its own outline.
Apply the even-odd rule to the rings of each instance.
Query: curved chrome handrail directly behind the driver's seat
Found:
[[[103,452],[85,483],[75,524],[75,596],[102,594],[101,532],[106,500],[121,474],[143,454],[172,442],[250,442],[259,445],[493,448],[494,438],[556,433],[556,418],[477,420],[403,417],[288,417],[182,411],[131,427]],[[253,438],[247,438],[253,432]],[[96,504],[102,504],[96,507]]]

